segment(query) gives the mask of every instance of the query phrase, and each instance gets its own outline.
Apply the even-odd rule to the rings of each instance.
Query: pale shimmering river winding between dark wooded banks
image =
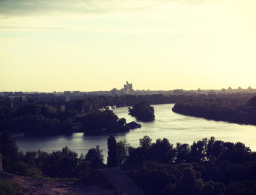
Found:
[[[149,135],[152,142],[157,138],[167,138],[171,144],[176,146],[177,142],[192,144],[193,141],[214,136],[216,140],[225,142],[242,142],[256,151],[256,126],[238,125],[235,123],[215,122],[203,118],[195,118],[177,114],[171,109],[174,104],[153,105],[156,120],[154,122],[137,122],[128,115],[128,108],[122,107],[113,111],[119,118],[126,118],[126,122],[135,121],[141,124],[141,128],[134,129],[128,133],[113,134],[116,140],[126,138],[130,146],[139,146],[139,138]],[[107,138],[109,135],[86,135],[73,133],[71,136],[40,136],[34,138],[16,137],[16,142],[21,151],[57,151],[65,146],[76,151],[78,154],[86,154],[90,148],[97,145],[103,149],[104,159],[107,159]]]

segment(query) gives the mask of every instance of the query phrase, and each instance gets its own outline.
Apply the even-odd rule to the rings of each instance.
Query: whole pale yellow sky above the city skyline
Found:
[[[255,0],[0,0],[0,92],[256,88]]]

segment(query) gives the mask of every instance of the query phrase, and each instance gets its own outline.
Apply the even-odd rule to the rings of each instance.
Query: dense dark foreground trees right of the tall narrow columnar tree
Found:
[[[149,136],[129,148],[127,172],[146,194],[255,194],[256,154],[244,144],[211,137],[176,147]]]

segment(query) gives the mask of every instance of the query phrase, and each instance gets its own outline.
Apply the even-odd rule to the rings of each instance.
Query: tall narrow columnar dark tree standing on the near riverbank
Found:
[[[119,166],[115,136],[107,138],[107,167]]]

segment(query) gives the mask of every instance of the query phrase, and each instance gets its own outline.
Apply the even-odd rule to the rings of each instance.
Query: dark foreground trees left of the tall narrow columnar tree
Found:
[[[5,141],[7,140],[7,141]],[[15,140],[7,131],[0,135],[0,153],[3,154],[3,168],[7,172],[26,176],[53,178],[83,177],[95,168],[104,168],[104,156],[99,146],[91,148],[87,155],[71,151],[68,147],[61,151],[46,153],[38,151],[18,151]]]

